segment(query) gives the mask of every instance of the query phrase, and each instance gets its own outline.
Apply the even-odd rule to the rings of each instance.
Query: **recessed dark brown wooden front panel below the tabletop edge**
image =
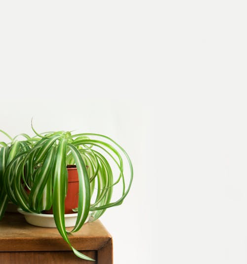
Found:
[[[96,251],[80,251],[96,260]],[[96,264],[77,258],[69,251],[1,252],[0,264]]]

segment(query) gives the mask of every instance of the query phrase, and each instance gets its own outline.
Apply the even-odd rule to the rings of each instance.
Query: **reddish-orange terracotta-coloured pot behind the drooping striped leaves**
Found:
[[[65,198],[65,214],[74,214],[72,209],[78,207],[78,195],[79,195],[79,178],[75,165],[68,165],[68,191]],[[48,211],[44,211],[45,214],[53,214],[52,207]]]

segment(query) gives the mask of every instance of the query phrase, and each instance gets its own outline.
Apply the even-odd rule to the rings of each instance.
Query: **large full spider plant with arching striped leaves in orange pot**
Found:
[[[33,126],[32,126],[33,128]],[[133,169],[124,149],[111,138],[94,133],[38,133],[40,138],[27,151],[19,152],[5,164],[3,185],[10,200],[24,211],[41,213],[52,206],[56,227],[74,254],[93,261],[70,243],[65,229],[64,203],[67,193],[67,165],[76,165],[79,176],[79,199],[76,225],[79,231],[89,211],[91,221],[107,208],[120,205],[129,192]],[[31,140],[31,139],[30,139]],[[124,160],[129,167],[128,183],[124,178]],[[118,169],[114,177],[113,167]],[[120,196],[112,201],[114,187],[121,184]]]

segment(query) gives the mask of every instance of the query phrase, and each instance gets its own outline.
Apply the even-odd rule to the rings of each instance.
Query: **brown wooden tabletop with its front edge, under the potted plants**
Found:
[[[71,231],[73,228],[67,228]],[[77,250],[97,250],[112,239],[99,220],[85,223],[82,229],[69,235]],[[6,213],[0,221],[0,252],[71,250],[56,228],[29,225],[23,215]]]

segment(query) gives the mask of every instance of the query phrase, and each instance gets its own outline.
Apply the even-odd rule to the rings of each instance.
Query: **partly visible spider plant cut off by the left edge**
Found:
[[[27,134],[19,134],[11,137],[8,133],[0,130],[11,142],[0,142],[0,220],[2,219],[6,210],[9,198],[5,189],[3,188],[3,174],[6,166],[19,154],[24,153],[31,148],[32,142],[30,136]],[[17,137],[23,136],[26,140],[18,141]],[[27,141],[28,140],[28,141]],[[33,139],[35,141],[35,139]]]

